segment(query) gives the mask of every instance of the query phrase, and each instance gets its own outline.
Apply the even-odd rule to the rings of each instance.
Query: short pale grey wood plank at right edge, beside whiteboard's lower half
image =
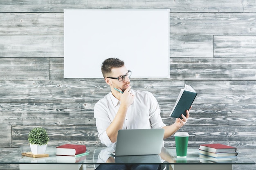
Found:
[[[256,57],[256,36],[214,36],[214,57]],[[254,63],[256,64],[256,62]]]

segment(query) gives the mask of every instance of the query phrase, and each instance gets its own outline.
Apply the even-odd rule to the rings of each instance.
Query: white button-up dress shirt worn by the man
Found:
[[[157,100],[152,93],[146,91],[131,90],[135,99],[128,108],[123,129],[148,129],[162,128],[166,126],[161,117]],[[120,106],[120,101],[112,93],[108,93],[94,106],[94,117],[102,144],[108,147],[115,146],[106,133],[106,129],[112,123]]]

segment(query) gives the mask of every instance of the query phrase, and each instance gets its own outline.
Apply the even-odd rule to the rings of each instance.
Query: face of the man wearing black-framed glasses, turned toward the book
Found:
[[[122,75],[126,75],[128,73],[128,70],[125,66],[119,67],[119,68],[112,68],[112,75],[111,77],[120,77]],[[110,79],[110,86],[113,88],[121,88],[123,91],[126,90],[130,86],[130,79],[126,76],[125,79],[121,82],[118,81],[118,79]]]

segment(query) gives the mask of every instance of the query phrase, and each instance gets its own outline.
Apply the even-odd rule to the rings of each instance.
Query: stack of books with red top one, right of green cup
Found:
[[[199,147],[199,158],[209,161],[235,161],[238,152],[233,146],[223,144],[205,144]]]

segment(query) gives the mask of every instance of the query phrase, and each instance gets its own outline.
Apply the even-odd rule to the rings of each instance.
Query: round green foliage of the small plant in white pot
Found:
[[[27,137],[30,144],[45,145],[49,141],[48,134],[44,128],[33,128]]]

